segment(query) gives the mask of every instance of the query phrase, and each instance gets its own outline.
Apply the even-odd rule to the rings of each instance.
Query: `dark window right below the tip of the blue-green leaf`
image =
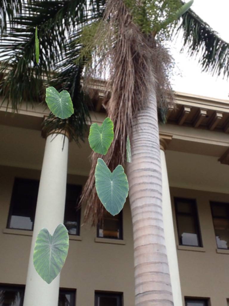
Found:
[[[103,219],[97,226],[97,237],[123,239],[122,235],[122,211],[118,215],[112,216],[104,210]]]

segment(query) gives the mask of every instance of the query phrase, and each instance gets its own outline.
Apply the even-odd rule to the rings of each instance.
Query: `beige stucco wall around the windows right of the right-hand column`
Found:
[[[200,231],[203,252],[178,249],[178,263],[181,280],[181,290],[186,297],[210,298],[211,306],[227,306],[229,298],[229,251],[226,254],[217,253],[216,239],[213,227],[209,201],[229,203],[229,194],[204,192],[191,189],[170,188],[173,205],[173,220],[176,244],[178,236],[173,197],[194,198],[197,200]],[[182,247],[181,247],[182,248]]]

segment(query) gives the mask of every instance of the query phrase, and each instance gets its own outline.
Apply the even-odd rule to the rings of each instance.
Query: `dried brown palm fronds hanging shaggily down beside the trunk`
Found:
[[[104,26],[105,28],[101,28]],[[110,78],[106,89],[107,92],[110,91],[111,98],[107,103],[107,116],[114,123],[115,137],[105,156],[95,152],[91,155],[92,166],[80,203],[87,203],[85,221],[90,219],[92,225],[96,225],[103,214],[103,205],[95,188],[97,159],[103,158],[111,171],[118,164],[124,166],[126,137],[131,135],[134,116],[145,106],[150,86],[157,89],[158,107],[165,109],[168,103],[173,102],[173,92],[166,73],[171,58],[162,45],[150,35],[143,34],[133,23],[123,0],[107,1],[95,40],[107,43],[104,57],[98,60],[96,68],[103,69],[106,67],[103,67],[103,63],[109,63]],[[100,51],[100,55],[101,49],[101,45],[97,46],[96,50]],[[86,70],[87,82],[89,77],[94,76],[96,68]],[[154,82],[149,84],[151,74],[157,78],[154,77]]]

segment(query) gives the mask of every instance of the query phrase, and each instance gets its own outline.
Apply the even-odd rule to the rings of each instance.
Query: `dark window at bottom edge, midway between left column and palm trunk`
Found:
[[[95,293],[95,306],[122,306],[122,293]]]

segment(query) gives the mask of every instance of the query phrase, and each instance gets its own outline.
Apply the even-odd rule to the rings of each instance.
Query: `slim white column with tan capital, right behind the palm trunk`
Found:
[[[182,306],[183,298],[180,288],[180,275],[178,268],[178,260],[176,253],[176,241],[174,235],[173,226],[173,214],[169,193],[169,181],[167,174],[167,167],[165,161],[165,149],[167,144],[172,139],[170,135],[160,134],[160,151],[161,151],[161,167],[162,167],[162,211],[163,211],[163,223],[165,233],[165,244],[169,262],[169,272],[171,278],[173,303],[174,306]]]

